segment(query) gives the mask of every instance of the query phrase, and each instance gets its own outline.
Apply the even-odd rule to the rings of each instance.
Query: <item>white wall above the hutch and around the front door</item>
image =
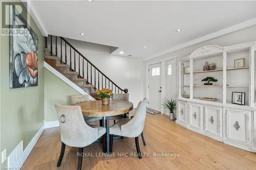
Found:
[[[236,45],[245,42],[256,41],[256,26],[248,27],[236,32],[232,32],[214,39],[210,39],[195,45],[191,45],[180,50],[174,51],[172,53],[165,54],[163,56],[159,56],[150,60],[144,61],[144,71],[147,69],[148,64],[159,63],[162,61],[168,61],[173,58],[182,58],[189,55],[191,52],[195,51],[197,48],[204,46],[204,45],[220,45],[220,46],[229,46],[229,45]],[[243,57],[241,57],[243,58]],[[177,64],[177,63],[176,63]],[[176,67],[177,75],[178,75],[178,67]],[[143,95],[146,96],[147,90],[147,82],[146,82],[147,74],[144,74],[144,83],[143,83]],[[176,96],[178,96],[178,76],[176,76],[176,88],[173,88],[176,92]],[[168,96],[168,94],[164,94]],[[166,113],[166,110],[165,112]]]

